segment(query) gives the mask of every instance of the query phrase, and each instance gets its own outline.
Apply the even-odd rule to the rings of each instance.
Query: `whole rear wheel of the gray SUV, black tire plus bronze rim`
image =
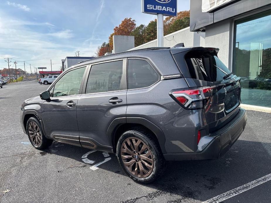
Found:
[[[120,136],[117,158],[124,172],[139,183],[151,183],[166,169],[158,143],[145,130],[135,128]]]

